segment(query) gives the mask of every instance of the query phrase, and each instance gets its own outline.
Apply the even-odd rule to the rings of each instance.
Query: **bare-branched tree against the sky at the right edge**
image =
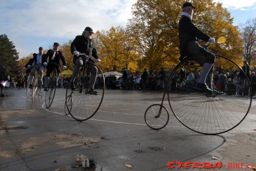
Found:
[[[241,38],[243,40],[243,58],[250,65],[256,59],[256,18],[247,20],[241,26]]]

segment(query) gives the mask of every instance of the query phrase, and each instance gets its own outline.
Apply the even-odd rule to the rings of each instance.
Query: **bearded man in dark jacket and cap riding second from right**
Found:
[[[79,70],[83,66],[83,60],[82,58],[79,58],[79,54],[85,53],[88,56],[93,56],[93,58],[96,59],[96,62],[101,61],[97,55],[95,42],[92,39],[93,34],[94,34],[93,29],[90,27],[86,27],[82,35],[76,36],[74,41],[71,43],[70,50],[71,50],[71,53],[74,55],[73,62],[75,64],[73,74],[70,79],[70,88],[72,90],[75,89],[74,83],[73,83],[74,79],[76,78],[76,76],[79,73]],[[94,84],[96,81],[96,76],[97,76],[97,68],[89,64],[89,72],[91,73],[91,76],[90,76],[90,85],[89,85],[88,93],[97,95],[98,92],[93,90]]]

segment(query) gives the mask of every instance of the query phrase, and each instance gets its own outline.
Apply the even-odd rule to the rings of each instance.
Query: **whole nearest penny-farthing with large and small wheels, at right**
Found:
[[[186,57],[170,73],[161,104],[153,104],[145,111],[144,119],[150,128],[162,129],[169,121],[169,112],[164,107],[166,93],[175,117],[186,128],[197,133],[208,135],[225,133],[244,120],[252,102],[250,79],[234,61],[222,55],[215,54],[215,56],[215,66],[232,69],[235,74],[242,72],[240,75],[243,77],[234,75],[232,84],[222,85],[220,89],[225,94],[206,97],[194,89],[196,81],[179,80],[181,66],[185,66],[187,72],[194,72],[196,68],[201,70],[200,66],[192,61],[193,57]]]

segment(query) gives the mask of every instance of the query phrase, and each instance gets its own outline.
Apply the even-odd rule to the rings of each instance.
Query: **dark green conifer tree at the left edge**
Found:
[[[18,68],[19,53],[7,35],[0,35],[0,66],[9,65],[9,71],[16,74]]]

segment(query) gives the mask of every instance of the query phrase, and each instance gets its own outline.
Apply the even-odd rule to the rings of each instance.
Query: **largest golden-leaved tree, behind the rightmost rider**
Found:
[[[137,40],[143,52],[143,65],[150,70],[172,67],[179,58],[178,20],[185,0],[138,0],[129,20],[128,29]],[[225,41],[211,45],[212,52],[241,61],[242,44],[233,18],[221,3],[213,0],[193,1],[196,6],[193,14],[195,25],[203,32],[218,40]],[[204,42],[205,43],[205,42]],[[201,42],[202,45],[204,43]]]

